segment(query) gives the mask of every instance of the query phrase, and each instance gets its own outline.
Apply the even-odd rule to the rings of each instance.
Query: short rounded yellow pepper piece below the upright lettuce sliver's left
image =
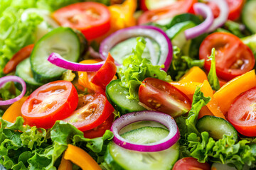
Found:
[[[186,82],[198,82],[198,83],[203,83],[203,81],[208,80],[206,73],[203,72],[202,69],[199,67],[192,67],[191,69],[186,72],[186,74],[181,77],[180,81],[181,83],[186,83]]]

